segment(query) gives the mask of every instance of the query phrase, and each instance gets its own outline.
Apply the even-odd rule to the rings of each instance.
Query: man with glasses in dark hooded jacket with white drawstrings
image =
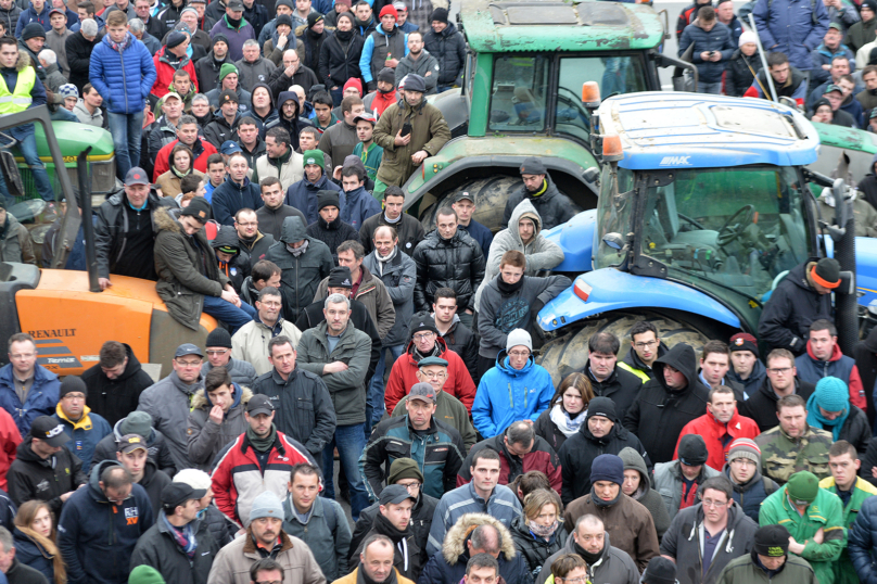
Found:
[[[719,582],[725,566],[750,553],[759,529],[724,477],[708,479],[701,492],[701,502],[679,511],[661,539],[661,555],[676,563],[679,584]]]

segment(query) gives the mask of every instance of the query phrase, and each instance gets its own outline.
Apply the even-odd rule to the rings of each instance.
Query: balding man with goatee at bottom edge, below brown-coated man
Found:
[[[670,520],[668,520],[668,524]],[[563,549],[545,560],[541,574],[551,573],[551,564],[565,554],[575,554],[587,563],[588,582],[639,584],[639,570],[628,554],[611,545],[606,525],[597,516],[583,515]]]

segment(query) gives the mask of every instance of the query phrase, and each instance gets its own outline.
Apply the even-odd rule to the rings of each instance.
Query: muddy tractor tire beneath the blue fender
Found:
[[[637,320],[647,320],[654,325],[658,337],[668,346],[688,343],[698,355],[707,341],[717,338],[710,334],[710,331],[698,330],[690,323],[657,313],[610,313],[601,318],[587,319],[581,326],[573,327],[563,337],[543,345],[537,363],[551,373],[551,380],[555,386],[558,386],[568,374],[584,371],[588,359],[588,340],[598,332],[611,332],[619,338],[621,341],[619,360],[621,360],[631,348],[630,330]]]

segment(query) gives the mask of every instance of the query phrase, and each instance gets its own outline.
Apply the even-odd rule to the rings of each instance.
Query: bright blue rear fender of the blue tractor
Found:
[[[587,293],[587,301],[575,294],[576,287]],[[670,280],[633,276],[612,268],[579,276],[572,287],[545,305],[538,322],[544,330],[554,331],[601,313],[637,308],[694,313],[699,318],[740,328],[737,315],[703,292]]]

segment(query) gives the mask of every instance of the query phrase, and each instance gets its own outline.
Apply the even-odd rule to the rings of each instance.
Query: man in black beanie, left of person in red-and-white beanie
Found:
[[[706,465],[709,452],[699,434],[682,436],[677,453],[677,460],[654,465],[654,490],[664,497],[670,519],[681,509],[697,505],[703,481],[722,474]]]

